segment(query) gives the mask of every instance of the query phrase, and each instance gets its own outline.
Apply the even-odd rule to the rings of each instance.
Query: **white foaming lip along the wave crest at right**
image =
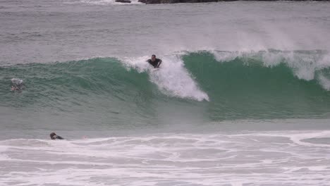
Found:
[[[219,62],[230,62],[236,58],[244,61],[255,59],[263,66],[274,67],[284,63],[293,70],[296,77],[302,80],[317,79],[315,73],[330,67],[328,51],[211,51]],[[248,65],[248,63],[247,63]],[[327,89],[329,87],[326,77],[319,77],[319,83]]]

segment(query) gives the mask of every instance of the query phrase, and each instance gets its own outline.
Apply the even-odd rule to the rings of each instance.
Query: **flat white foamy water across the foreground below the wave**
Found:
[[[327,185],[330,131],[0,142],[1,185]]]

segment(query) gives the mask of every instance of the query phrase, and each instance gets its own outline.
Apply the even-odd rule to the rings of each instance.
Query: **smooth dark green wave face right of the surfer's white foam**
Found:
[[[261,56],[243,55],[230,61],[217,61],[208,52],[183,56],[185,67],[209,95],[212,120],[308,118],[329,113],[330,94],[319,80],[329,74],[329,68],[309,68],[314,70],[314,77],[304,80],[286,58],[271,66]]]

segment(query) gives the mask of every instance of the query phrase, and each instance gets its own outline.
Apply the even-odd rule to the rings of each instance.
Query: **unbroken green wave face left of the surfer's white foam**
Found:
[[[99,121],[126,123],[130,118],[145,123],[152,115],[146,104],[157,95],[157,87],[149,82],[147,73],[128,70],[115,58],[33,63],[0,71],[0,106],[10,108],[8,112],[27,113],[12,117],[18,118],[18,123],[32,123],[44,117],[40,121],[44,125],[49,122],[46,118],[53,116],[54,120],[63,118],[62,123],[78,125]],[[25,90],[10,91],[13,77],[23,80]]]

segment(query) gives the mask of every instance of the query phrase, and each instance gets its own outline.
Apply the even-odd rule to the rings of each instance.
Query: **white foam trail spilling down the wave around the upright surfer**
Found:
[[[197,101],[209,101],[209,97],[203,92],[188,71],[184,68],[180,56],[164,56],[161,69],[152,70],[146,62],[147,56],[123,60],[126,66],[137,69],[140,73],[149,72],[150,81],[159,87],[166,95],[180,98],[195,99]]]

